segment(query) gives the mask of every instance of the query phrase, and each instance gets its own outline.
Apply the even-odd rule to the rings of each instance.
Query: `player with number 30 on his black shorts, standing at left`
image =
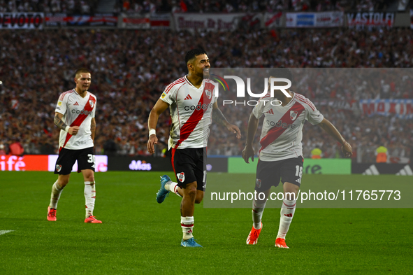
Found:
[[[93,150],[96,97],[87,92],[90,81],[90,72],[84,68],[78,69],[75,72],[75,89],[60,94],[59,101],[57,101],[55,125],[60,128],[60,136],[55,174],[59,174],[59,177],[52,186],[52,196],[48,207],[48,220],[50,221],[56,220],[57,202],[71,176],[73,164],[77,160],[78,173],[81,171],[85,180],[85,223],[102,223],[93,216],[96,199]]]

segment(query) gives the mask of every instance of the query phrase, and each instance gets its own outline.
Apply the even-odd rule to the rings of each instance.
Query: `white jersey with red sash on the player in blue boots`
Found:
[[[212,105],[217,83],[205,79],[196,88],[186,76],[166,86],[161,100],[169,104],[172,118],[168,148],[203,148],[207,146],[212,123]]]

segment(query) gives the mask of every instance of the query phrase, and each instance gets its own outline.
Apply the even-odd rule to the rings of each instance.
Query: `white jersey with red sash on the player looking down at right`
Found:
[[[303,155],[303,125],[305,120],[317,125],[324,116],[312,102],[301,94],[294,96],[286,106],[270,104],[270,95],[261,97],[252,113],[259,119],[265,115],[260,137],[259,160],[273,162]],[[274,101],[273,104],[276,104]]]

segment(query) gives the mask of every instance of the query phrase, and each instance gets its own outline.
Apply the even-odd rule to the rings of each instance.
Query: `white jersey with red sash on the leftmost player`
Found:
[[[64,130],[60,130],[59,151],[61,148],[79,150],[93,147],[90,123],[96,110],[96,97],[87,92],[85,97],[75,89],[60,94],[55,112],[63,115],[62,121],[68,126],[79,126],[77,135],[72,136]]]

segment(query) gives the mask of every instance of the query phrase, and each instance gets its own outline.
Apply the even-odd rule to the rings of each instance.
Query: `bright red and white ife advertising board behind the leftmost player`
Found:
[[[0,171],[55,171],[58,155],[0,155]],[[78,171],[78,162],[72,171]],[[108,171],[108,156],[95,156],[95,171]]]

